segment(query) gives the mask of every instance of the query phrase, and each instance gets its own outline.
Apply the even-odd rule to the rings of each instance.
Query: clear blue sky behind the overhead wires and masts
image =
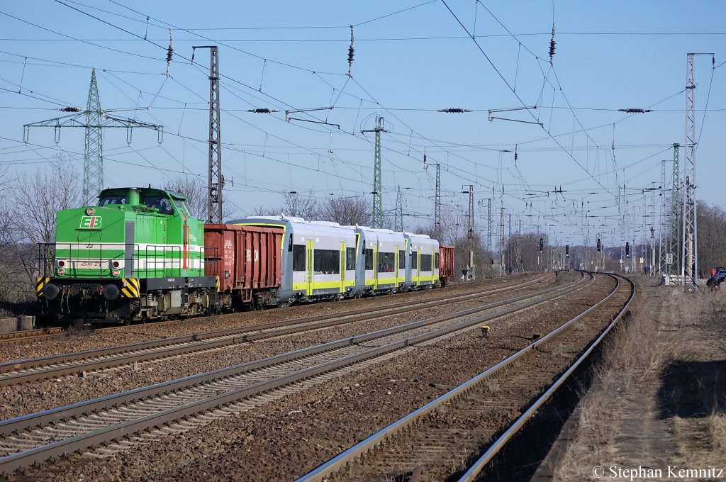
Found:
[[[96,68],[103,108],[149,107],[116,115],[165,129],[162,144],[152,131],[134,131],[127,144],[123,129],[107,129],[105,185],[205,180],[208,52],[197,51],[195,65],[190,59],[192,46],[217,44],[232,217],[280,205],[290,191],[370,199],[373,135],[360,131],[380,115],[388,130],[383,208],[393,209],[400,186],[407,228],[433,215],[435,171],[424,168],[425,150],[441,164],[442,211],[464,214],[462,187],[474,185],[477,229],[492,198],[494,212],[503,203],[515,226],[521,220],[570,244],[594,243],[602,232],[605,245],[619,245],[617,186],[627,187],[640,240],[653,224],[643,217],[643,189],[660,186],[661,160],[669,161],[669,187],[671,146],[685,143],[686,54],[714,52],[716,66],[726,60],[725,10],[719,1],[4,2],[0,165],[33,173],[60,152],[81,170],[82,129],[63,130],[58,144],[53,129],[33,129],[24,144],[22,126],[61,115],[59,107],[85,107]],[[710,56],[696,58],[697,195],[720,205],[725,73]],[[487,120],[489,109],[535,105],[493,114],[526,123]],[[293,115],[330,125],[285,122],[286,109],[331,106]],[[247,112],[258,107],[280,112]],[[452,107],[472,112],[437,112]],[[653,112],[617,111],[633,107]]]

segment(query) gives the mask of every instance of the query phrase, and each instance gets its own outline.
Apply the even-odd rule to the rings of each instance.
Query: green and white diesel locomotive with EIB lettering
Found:
[[[36,290],[48,319],[128,322],[216,303],[216,278],[204,276],[204,223],[177,192],[105,189],[95,206],[58,211],[41,264]]]

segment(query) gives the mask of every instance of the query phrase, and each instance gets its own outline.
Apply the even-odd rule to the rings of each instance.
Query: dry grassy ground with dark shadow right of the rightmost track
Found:
[[[555,480],[726,478],[726,295],[648,283],[568,423],[571,441],[545,461]]]

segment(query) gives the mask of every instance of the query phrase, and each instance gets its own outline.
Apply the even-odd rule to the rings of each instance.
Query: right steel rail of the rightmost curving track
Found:
[[[623,308],[618,312],[618,314],[616,314],[616,316],[613,316],[613,319],[610,322],[610,324],[608,324],[608,326],[605,328],[605,330],[603,330],[603,332],[600,334],[600,336],[597,337],[597,339],[590,344],[590,346],[587,348],[587,350],[584,351],[584,353],[578,357],[578,359],[574,362],[574,364],[572,364],[571,367],[569,367],[566,370],[566,372],[564,372],[557,380],[555,380],[555,383],[552,383],[550,388],[548,388],[547,391],[542,393],[542,396],[540,396],[539,399],[537,399],[537,401],[534,401],[534,403],[531,404],[529,409],[527,409],[523,414],[521,414],[521,416],[518,417],[518,419],[515,420],[512,425],[510,425],[510,428],[505,430],[505,432],[502,433],[502,435],[499,436],[499,438],[497,438],[496,441],[494,441],[492,446],[490,446],[489,449],[487,449],[486,452],[484,452],[484,454],[482,454],[481,457],[479,457],[479,459],[476,462],[474,462],[474,464],[471,467],[469,467],[469,470],[467,470],[466,473],[461,476],[461,478],[459,479],[459,482],[471,482],[471,481],[476,480],[479,473],[481,473],[481,470],[483,470],[484,467],[486,466],[486,464],[492,460],[494,455],[496,455],[497,452],[499,452],[499,450],[501,450],[502,447],[504,447],[507,444],[507,442],[510,440],[510,438],[512,438],[512,436],[514,436],[514,434],[517,433],[518,430],[520,430],[524,426],[524,424],[532,417],[532,415],[534,415],[534,412],[537,412],[537,409],[539,409],[539,407],[542,407],[544,402],[546,402],[548,399],[550,399],[550,396],[552,396],[552,394],[555,393],[555,391],[557,391],[558,388],[560,388],[560,386],[563,383],[565,383],[565,380],[567,380],[567,378],[570,375],[572,375],[572,372],[574,372],[577,369],[577,367],[579,367],[580,364],[582,364],[582,362],[585,359],[587,359],[588,356],[590,356],[592,351],[595,350],[595,348],[600,344],[600,342],[605,338],[605,336],[608,335],[608,333],[613,329],[615,324],[621,319],[623,314],[627,311],[627,309],[630,306],[630,303],[633,301],[633,298],[635,298],[635,283],[632,282],[632,279],[628,279],[619,274],[613,273],[613,274],[610,274],[610,276],[626,279],[627,282],[629,282],[630,295],[628,297],[627,302],[623,306]]]

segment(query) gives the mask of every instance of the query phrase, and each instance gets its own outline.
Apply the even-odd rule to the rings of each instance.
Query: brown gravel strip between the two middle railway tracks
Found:
[[[518,293],[542,290],[544,284],[526,287]],[[499,293],[486,297],[486,303],[510,296]],[[378,300],[380,298],[376,298]],[[0,419],[19,417],[24,414],[73,404],[91,398],[131,390],[174,378],[195,375],[234,364],[250,362],[274,354],[340,340],[354,335],[363,335],[375,330],[409,323],[438,314],[451,313],[481,306],[481,301],[465,301],[455,305],[442,305],[432,309],[412,311],[406,314],[388,316],[362,322],[346,323],[296,335],[285,335],[255,343],[240,343],[197,354],[186,354],[165,359],[139,362],[134,365],[114,367],[88,372],[83,377],[67,375],[22,385],[0,387],[0,396],[5,403],[0,407]],[[498,308],[500,309],[500,308]]]

